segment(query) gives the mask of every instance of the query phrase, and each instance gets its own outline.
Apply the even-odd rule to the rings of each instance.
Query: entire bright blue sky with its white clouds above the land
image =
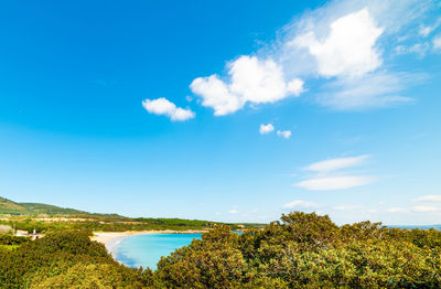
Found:
[[[0,6],[1,196],[439,223],[435,1]]]

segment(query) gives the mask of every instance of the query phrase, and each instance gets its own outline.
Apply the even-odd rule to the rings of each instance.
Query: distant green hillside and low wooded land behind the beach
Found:
[[[96,214],[74,208],[64,208],[40,203],[15,203],[0,197],[0,214],[6,217],[0,226],[32,233],[47,233],[61,229],[88,229],[103,232],[123,231],[204,231],[215,223],[200,220],[184,218],[130,218],[117,214]],[[228,224],[234,229],[259,228],[262,224]]]

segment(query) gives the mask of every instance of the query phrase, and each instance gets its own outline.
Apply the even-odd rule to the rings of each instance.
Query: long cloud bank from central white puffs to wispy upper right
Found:
[[[252,56],[229,62],[227,75],[198,77],[190,87],[216,116],[233,114],[246,104],[299,96],[305,90],[303,81],[309,79],[309,85],[316,85],[310,88],[312,99],[332,109],[406,104],[411,99],[402,92],[418,82],[408,82],[412,73],[399,72],[402,65],[394,56],[397,51],[431,51],[416,43],[415,26],[433,9],[433,1],[419,0],[329,1],[293,18]],[[420,33],[432,33],[437,25],[438,21],[421,26]],[[402,47],[394,51],[398,45]],[[441,39],[433,41],[433,49],[441,50]]]

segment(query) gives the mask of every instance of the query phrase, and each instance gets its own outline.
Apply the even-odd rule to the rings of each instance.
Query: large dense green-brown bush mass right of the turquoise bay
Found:
[[[155,277],[184,288],[440,288],[441,232],[291,213],[262,231],[226,227],[164,257]]]

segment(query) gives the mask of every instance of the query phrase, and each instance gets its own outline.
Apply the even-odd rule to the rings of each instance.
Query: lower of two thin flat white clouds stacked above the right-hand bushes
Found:
[[[334,191],[367,185],[374,180],[368,175],[327,176],[305,180],[294,185],[310,191]]]

